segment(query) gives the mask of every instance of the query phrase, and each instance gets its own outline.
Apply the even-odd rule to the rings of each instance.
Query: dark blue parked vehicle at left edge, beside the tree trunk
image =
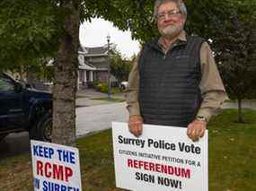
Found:
[[[0,141],[10,133],[29,131],[30,138],[50,141],[52,95],[0,73]]]

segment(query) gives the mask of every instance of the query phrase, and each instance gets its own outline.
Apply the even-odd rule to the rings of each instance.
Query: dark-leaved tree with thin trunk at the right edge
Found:
[[[226,91],[230,98],[238,100],[238,122],[244,122],[242,100],[256,95],[256,13],[253,6],[255,3],[243,2],[231,7],[229,21],[225,21],[225,25],[216,22],[219,29],[215,39],[216,61]]]

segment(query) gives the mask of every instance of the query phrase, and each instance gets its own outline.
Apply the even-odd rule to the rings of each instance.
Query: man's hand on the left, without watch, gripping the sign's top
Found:
[[[141,116],[131,116],[128,119],[128,130],[135,136],[142,134],[143,118]]]

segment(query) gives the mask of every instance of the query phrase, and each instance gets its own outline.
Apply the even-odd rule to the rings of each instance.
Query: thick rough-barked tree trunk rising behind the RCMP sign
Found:
[[[79,0],[64,0],[63,35],[54,65],[52,142],[75,145],[75,92],[79,46]]]

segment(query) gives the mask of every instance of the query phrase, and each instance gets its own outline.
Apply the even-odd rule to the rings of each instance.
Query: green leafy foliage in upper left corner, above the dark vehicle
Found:
[[[61,17],[52,1],[4,0],[0,15],[1,70],[27,70],[55,56]]]

